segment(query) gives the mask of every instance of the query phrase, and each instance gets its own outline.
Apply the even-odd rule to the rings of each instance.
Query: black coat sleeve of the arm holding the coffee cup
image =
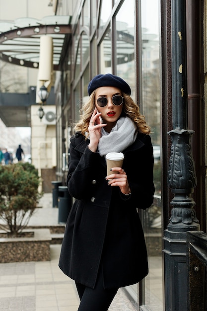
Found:
[[[133,158],[127,161],[126,173],[132,192],[129,198],[129,204],[130,200],[132,200],[133,202],[137,202],[137,208],[146,209],[153,202],[154,158],[150,136],[144,135],[141,140],[144,144],[134,153]]]

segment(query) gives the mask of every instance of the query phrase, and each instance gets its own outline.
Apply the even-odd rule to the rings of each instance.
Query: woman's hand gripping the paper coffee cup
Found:
[[[113,167],[111,170],[118,171],[119,173],[106,176],[108,184],[113,186],[119,186],[120,190],[124,194],[130,194],[131,189],[128,183],[127,174],[122,167]]]

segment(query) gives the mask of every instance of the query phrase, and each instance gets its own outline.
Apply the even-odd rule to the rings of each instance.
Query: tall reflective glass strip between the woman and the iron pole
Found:
[[[163,310],[158,5],[159,0],[141,1],[142,110],[152,132],[156,200],[156,205],[144,211],[142,217],[149,261],[149,274],[145,278],[145,305],[153,311]]]

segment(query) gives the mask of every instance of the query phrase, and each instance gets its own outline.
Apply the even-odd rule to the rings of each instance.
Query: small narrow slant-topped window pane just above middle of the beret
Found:
[[[111,74],[111,58],[112,58],[112,48],[111,48],[111,30],[109,29],[100,44],[100,73],[101,74]]]

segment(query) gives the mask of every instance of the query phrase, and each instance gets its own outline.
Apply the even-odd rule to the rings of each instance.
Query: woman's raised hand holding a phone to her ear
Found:
[[[98,112],[97,109],[95,108],[90,118],[90,123],[88,127],[88,132],[90,135],[90,143],[88,145],[88,148],[92,152],[96,152],[98,148],[99,139],[101,138],[101,128],[103,126],[106,126],[106,124],[100,123],[99,119],[100,115],[101,113]]]

